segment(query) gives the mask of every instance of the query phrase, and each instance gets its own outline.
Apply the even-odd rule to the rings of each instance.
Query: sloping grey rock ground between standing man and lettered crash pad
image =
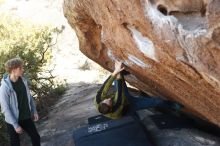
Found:
[[[63,98],[38,125],[42,146],[74,145],[73,130],[85,125],[88,117],[97,114],[93,97],[99,86],[83,82],[69,85]]]

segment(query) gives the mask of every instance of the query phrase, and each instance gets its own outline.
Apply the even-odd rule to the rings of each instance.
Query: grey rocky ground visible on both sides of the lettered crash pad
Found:
[[[100,84],[85,82],[69,85],[69,90],[51,107],[48,116],[37,124],[42,146],[74,146],[73,131],[86,126],[87,119],[98,114],[93,105],[93,97],[99,87]],[[182,121],[177,120],[176,123],[173,122],[174,126],[160,129],[151,116],[161,114],[161,112],[150,109],[139,111],[138,114],[156,146],[220,145],[220,137],[203,131],[205,128],[202,130],[191,127],[191,123],[189,126],[182,125]],[[182,128],[175,127],[178,122]],[[160,121],[159,125],[162,124],[163,127],[167,123],[169,122],[166,120]]]

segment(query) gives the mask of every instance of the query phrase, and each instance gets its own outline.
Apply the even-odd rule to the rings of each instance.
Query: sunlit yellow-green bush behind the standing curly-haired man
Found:
[[[48,108],[47,97],[56,93],[60,95],[66,88],[65,82],[54,81],[52,70],[48,69],[52,58],[53,37],[61,31],[4,16],[0,20],[0,78],[5,73],[4,63],[8,59],[23,59],[32,95],[38,103],[38,110],[44,112]],[[2,126],[1,122],[0,127]],[[1,132],[2,130],[0,138]]]

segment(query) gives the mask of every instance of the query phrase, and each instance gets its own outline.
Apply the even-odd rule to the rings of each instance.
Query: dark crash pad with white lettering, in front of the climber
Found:
[[[152,146],[144,127],[130,116],[79,128],[73,138],[76,146]]]

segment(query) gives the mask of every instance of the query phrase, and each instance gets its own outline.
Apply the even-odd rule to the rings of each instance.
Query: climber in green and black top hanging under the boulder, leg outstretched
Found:
[[[131,110],[131,112],[134,112],[151,107],[170,108],[174,110],[180,110],[182,108],[182,105],[176,102],[162,100],[156,97],[132,96],[129,94],[126,82],[124,80],[124,75],[127,74],[129,74],[129,72],[124,70],[123,64],[116,61],[114,72],[98,90],[94,103],[97,110],[104,116],[111,119],[118,119],[126,113],[127,109]],[[116,92],[113,94],[108,94],[113,82]]]

